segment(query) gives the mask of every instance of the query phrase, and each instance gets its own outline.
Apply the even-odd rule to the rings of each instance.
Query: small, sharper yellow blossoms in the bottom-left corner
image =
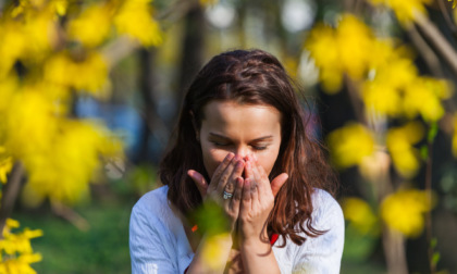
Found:
[[[30,263],[41,261],[41,256],[34,252],[30,239],[42,236],[42,232],[25,228],[22,233],[13,233],[12,229],[18,226],[17,221],[7,220],[0,239],[0,274],[36,274]]]

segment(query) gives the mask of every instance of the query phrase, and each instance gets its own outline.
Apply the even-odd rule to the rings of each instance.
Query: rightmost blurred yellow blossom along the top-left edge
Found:
[[[126,0],[114,17],[120,34],[137,39],[143,46],[158,46],[162,42],[159,23],[151,16],[149,0]]]

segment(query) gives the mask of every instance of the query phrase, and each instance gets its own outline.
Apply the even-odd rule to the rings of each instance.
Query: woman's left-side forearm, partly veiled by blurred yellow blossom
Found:
[[[228,233],[215,236],[203,236],[194,259],[187,269],[187,274],[223,273],[232,249],[232,236]]]

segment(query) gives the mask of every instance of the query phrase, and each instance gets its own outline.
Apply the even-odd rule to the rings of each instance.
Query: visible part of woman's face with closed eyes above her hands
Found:
[[[281,113],[264,104],[210,101],[199,130],[203,164],[210,178],[228,152],[255,154],[270,174],[281,146]]]

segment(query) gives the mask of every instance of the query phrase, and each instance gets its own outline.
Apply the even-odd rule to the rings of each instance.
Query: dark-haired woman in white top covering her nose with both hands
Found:
[[[276,58],[214,57],[185,97],[160,165],[165,186],[133,209],[133,273],[338,273],[344,220],[329,194],[336,184],[305,128]],[[207,204],[218,204],[226,226],[195,226]]]

